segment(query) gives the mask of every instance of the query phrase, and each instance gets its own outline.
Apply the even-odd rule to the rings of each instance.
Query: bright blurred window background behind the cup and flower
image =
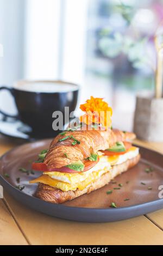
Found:
[[[79,104],[104,97],[113,126],[132,130],[135,95],[154,89],[153,39],[162,19],[161,0],[0,0],[0,85],[78,83]],[[1,109],[15,113],[6,95]]]

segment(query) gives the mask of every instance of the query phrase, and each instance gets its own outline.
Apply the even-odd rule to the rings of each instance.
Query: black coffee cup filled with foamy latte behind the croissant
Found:
[[[54,90],[53,90],[54,88]],[[32,128],[33,133],[52,133],[52,114],[72,112],[77,106],[79,86],[64,81],[18,81],[14,87],[0,87],[9,90],[15,99],[18,115],[9,115],[0,110],[5,117],[21,120]],[[47,136],[49,137],[49,136]]]

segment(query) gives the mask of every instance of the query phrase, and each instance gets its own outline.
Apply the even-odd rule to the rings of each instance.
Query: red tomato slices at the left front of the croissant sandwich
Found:
[[[83,160],[83,163],[85,165],[83,172],[86,172],[87,170],[91,169],[98,162],[99,162],[99,157],[98,157],[97,161]],[[63,167],[60,167],[60,168],[50,168],[45,163],[33,163],[32,164],[32,169],[38,170],[40,172],[78,173],[76,170],[67,168],[66,166],[63,166]]]

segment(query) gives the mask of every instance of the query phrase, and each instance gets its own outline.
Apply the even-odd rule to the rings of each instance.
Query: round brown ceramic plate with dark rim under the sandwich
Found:
[[[120,221],[163,208],[163,199],[159,199],[159,186],[163,185],[163,156],[145,148],[140,148],[142,157],[139,164],[117,176],[114,184],[110,183],[60,205],[35,198],[33,194],[37,185],[29,185],[28,181],[40,173],[27,175],[18,169],[30,169],[31,162],[36,160],[42,149],[48,148],[50,142],[51,140],[45,139],[23,144],[1,157],[1,185],[21,203],[48,215],[86,222]],[[153,167],[153,172],[147,173],[145,169],[149,166]],[[9,178],[6,174],[9,174]],[[20,178],[20,183],[17,183],[17,178]],[[118,184],[123,186],[120,190],[114,190]],[[15,188],[17,185],[24,186],[24,190],[19,191]],[[112,190],[112,194],[106,194],[108,190]],[[129,200],[125,200],[126,198]],[[112,202],[116,203],[117,208],[109,207]]]

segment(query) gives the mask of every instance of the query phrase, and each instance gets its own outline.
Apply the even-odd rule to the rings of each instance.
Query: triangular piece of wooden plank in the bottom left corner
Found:
[[[0,199],[0,245],[28,245],[3,199]]]

